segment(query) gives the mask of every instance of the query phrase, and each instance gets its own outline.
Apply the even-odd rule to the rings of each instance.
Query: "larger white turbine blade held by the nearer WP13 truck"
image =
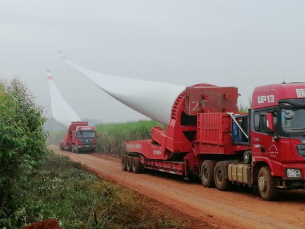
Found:
[[[58,51],[68,65],[95,82],[102,90],[116,100],[164,125],[170,121],[170,113],[175,99],[186,87],[127,77],[106,75],[91,71],[71,62]]]

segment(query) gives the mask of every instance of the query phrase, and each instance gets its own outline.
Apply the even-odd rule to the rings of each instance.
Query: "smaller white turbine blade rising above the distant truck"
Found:
[[[52,115],[60,125],[68,129],[71,122],[81,121],[81,119],[66,102],[62,94],[60,94],[52,78],[50,70],[47,70],[47,78],[51,96]]]

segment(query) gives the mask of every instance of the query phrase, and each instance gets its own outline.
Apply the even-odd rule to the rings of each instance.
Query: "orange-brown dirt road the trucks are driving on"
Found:
[[[60,151],[54,145],[50,148],[56,154],[86,164],[89,169],[109,180],[219,228],[305,228],[303,191],[282,192],[278,202],[266,202],[245,187],[236,187],[232,192],[221,192],[171,174],[154,171],[148,174],[124,172],[120,160],[110,156],[75,154]]]

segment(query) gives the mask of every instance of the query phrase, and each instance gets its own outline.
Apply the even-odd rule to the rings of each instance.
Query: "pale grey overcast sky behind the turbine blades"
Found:
[[[145,118],[59,59],[98,72],[180,85],[304,81],[303,1],[0,0],[0,76],[24,80],[50,106],[50,69],[81,118]],[[50,112],[49,112],[50,115]]]

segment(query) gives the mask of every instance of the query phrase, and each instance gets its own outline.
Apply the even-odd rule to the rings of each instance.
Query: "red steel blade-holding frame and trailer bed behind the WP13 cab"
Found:
[[[153,127],[151,139],[125,142],[126,151],[131,155],[139,155],[144,168],[178,175],[198,174],[201,154],[228,155],[248,149],[248,146],[240,147],[231,144],[228,130],[230,116],[226,113],[215,113],[237,112],[237,97],[237,88],[233,87],[222,88],[210,84],[196,84],[189,87],[174,102],[171,120],[166,131],[161,127]],[[193,103],[195,107],[192,108]],[[198,110],[194,112],[196,107]],[[192,126],[181,125],[184,113],[196,116],[197,123]],[[210,126],[208,128],[204,126],[205,123],[202,121],[204,118],[214,120],[215,123],[208,124]],[[217,122],[219,118],[221,121]],[[203,131],[212,133],[215,130],[218,131],[218,135],[212,136],[218,140],[206,141],[202,135]],[[185,135],[186,131],[197,133],[197,136],[195,134],[195,139],[190,140]],[[175,154],[181,155],[181,153],[184,158],[180,158],[180,161],[170,160],[175,157]]]

